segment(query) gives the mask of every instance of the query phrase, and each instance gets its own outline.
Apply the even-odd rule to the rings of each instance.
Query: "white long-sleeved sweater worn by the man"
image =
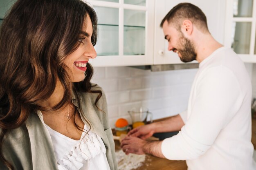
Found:
[[[251,143],[252,85],[243,62],[222,47],[195,76],[182,130],[162,143],[167,159],[188,170],[256,170]]]

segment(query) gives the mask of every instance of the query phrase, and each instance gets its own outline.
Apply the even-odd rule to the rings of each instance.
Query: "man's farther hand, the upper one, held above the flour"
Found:
[[[127,136],[139,137],[141,139],[147,139],[154,134],[153,124],[139,126],[128,132]]]

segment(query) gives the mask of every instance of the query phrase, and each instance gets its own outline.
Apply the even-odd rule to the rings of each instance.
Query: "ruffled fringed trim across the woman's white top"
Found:
[[[101,137],[89,131],[81,142],[76,144],[62,159],[59,159],[59,170],[80,170],[83,162],[94,158],[101,152],[106,154],[106,148]]]

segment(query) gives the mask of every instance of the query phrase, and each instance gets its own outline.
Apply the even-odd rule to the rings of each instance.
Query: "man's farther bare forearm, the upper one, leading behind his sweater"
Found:
[[[158,121],[152,124],[154,126],[155,133],[157,132],[173,132],[181,130],[184,126],[184,122],[180,115],[175,115],[169,119]]]

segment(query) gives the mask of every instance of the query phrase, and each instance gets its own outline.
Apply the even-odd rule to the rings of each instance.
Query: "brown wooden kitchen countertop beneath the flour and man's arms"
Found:
[[[252,144],[256,149],[256,117],[252,119]],[[119,141],[115,141],[115,149],[120,150]],[[146,159],[142,166],[133,170],[187,170],[186,161],[171,161],[146,155]]]

